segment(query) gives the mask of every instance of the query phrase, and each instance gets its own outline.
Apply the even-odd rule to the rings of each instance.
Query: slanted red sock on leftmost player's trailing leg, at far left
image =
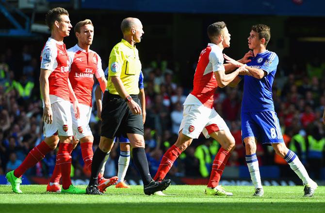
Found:
[[[35,166],[38,161],[42,160],[45,155],[51,151],[52,149],[49,147],[49,145],[45,143],[45,141],[42,141],[40,144],[34,147],[31,152],[28,153],[22,164],[15,169],[15,177],[20,178],[27,169]]]

